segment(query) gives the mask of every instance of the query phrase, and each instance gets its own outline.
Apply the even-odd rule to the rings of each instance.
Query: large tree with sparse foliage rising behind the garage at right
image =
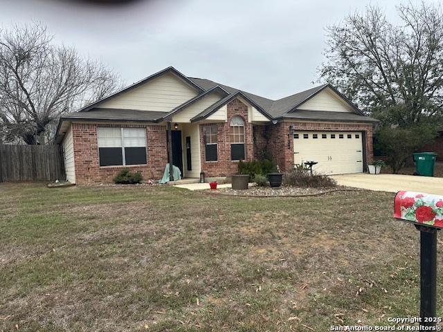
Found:
[[[403,127],[443,115],[443,15],[425,3],[397,11],[399,26],[375,7],[329,26],[319,74],[364,111]]]

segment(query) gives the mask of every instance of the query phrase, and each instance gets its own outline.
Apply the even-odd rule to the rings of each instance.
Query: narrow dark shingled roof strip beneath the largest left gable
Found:
[[[61,120],[158,122],[167,114],[168,112],[138,111],[136,109],[90,109],[88,112],[68,113],[62,116]]]

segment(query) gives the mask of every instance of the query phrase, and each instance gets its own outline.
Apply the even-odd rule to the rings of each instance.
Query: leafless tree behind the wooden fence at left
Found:
[[[0,31],[0,126],[3,140],[42,144],[62,113],[102,98],[117,75],[74,48],[55,46],[42,24]]]

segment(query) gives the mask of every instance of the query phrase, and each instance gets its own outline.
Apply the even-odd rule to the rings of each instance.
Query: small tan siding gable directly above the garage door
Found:
[[[301,104],[297,109],[354,113],[352,107],[345,100],[328,88],[314,95],[314,97]]]

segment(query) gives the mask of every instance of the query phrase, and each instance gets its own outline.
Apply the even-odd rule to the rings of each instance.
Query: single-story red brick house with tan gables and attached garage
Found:
[[[365,172],[377,120],[333,86],[270,100],[168,67],[66,114],[56,142],[71,183],[111,183],[129,167],[159,179],[168,160],[185,178],[230,176],[269,151],[282,171]]]

